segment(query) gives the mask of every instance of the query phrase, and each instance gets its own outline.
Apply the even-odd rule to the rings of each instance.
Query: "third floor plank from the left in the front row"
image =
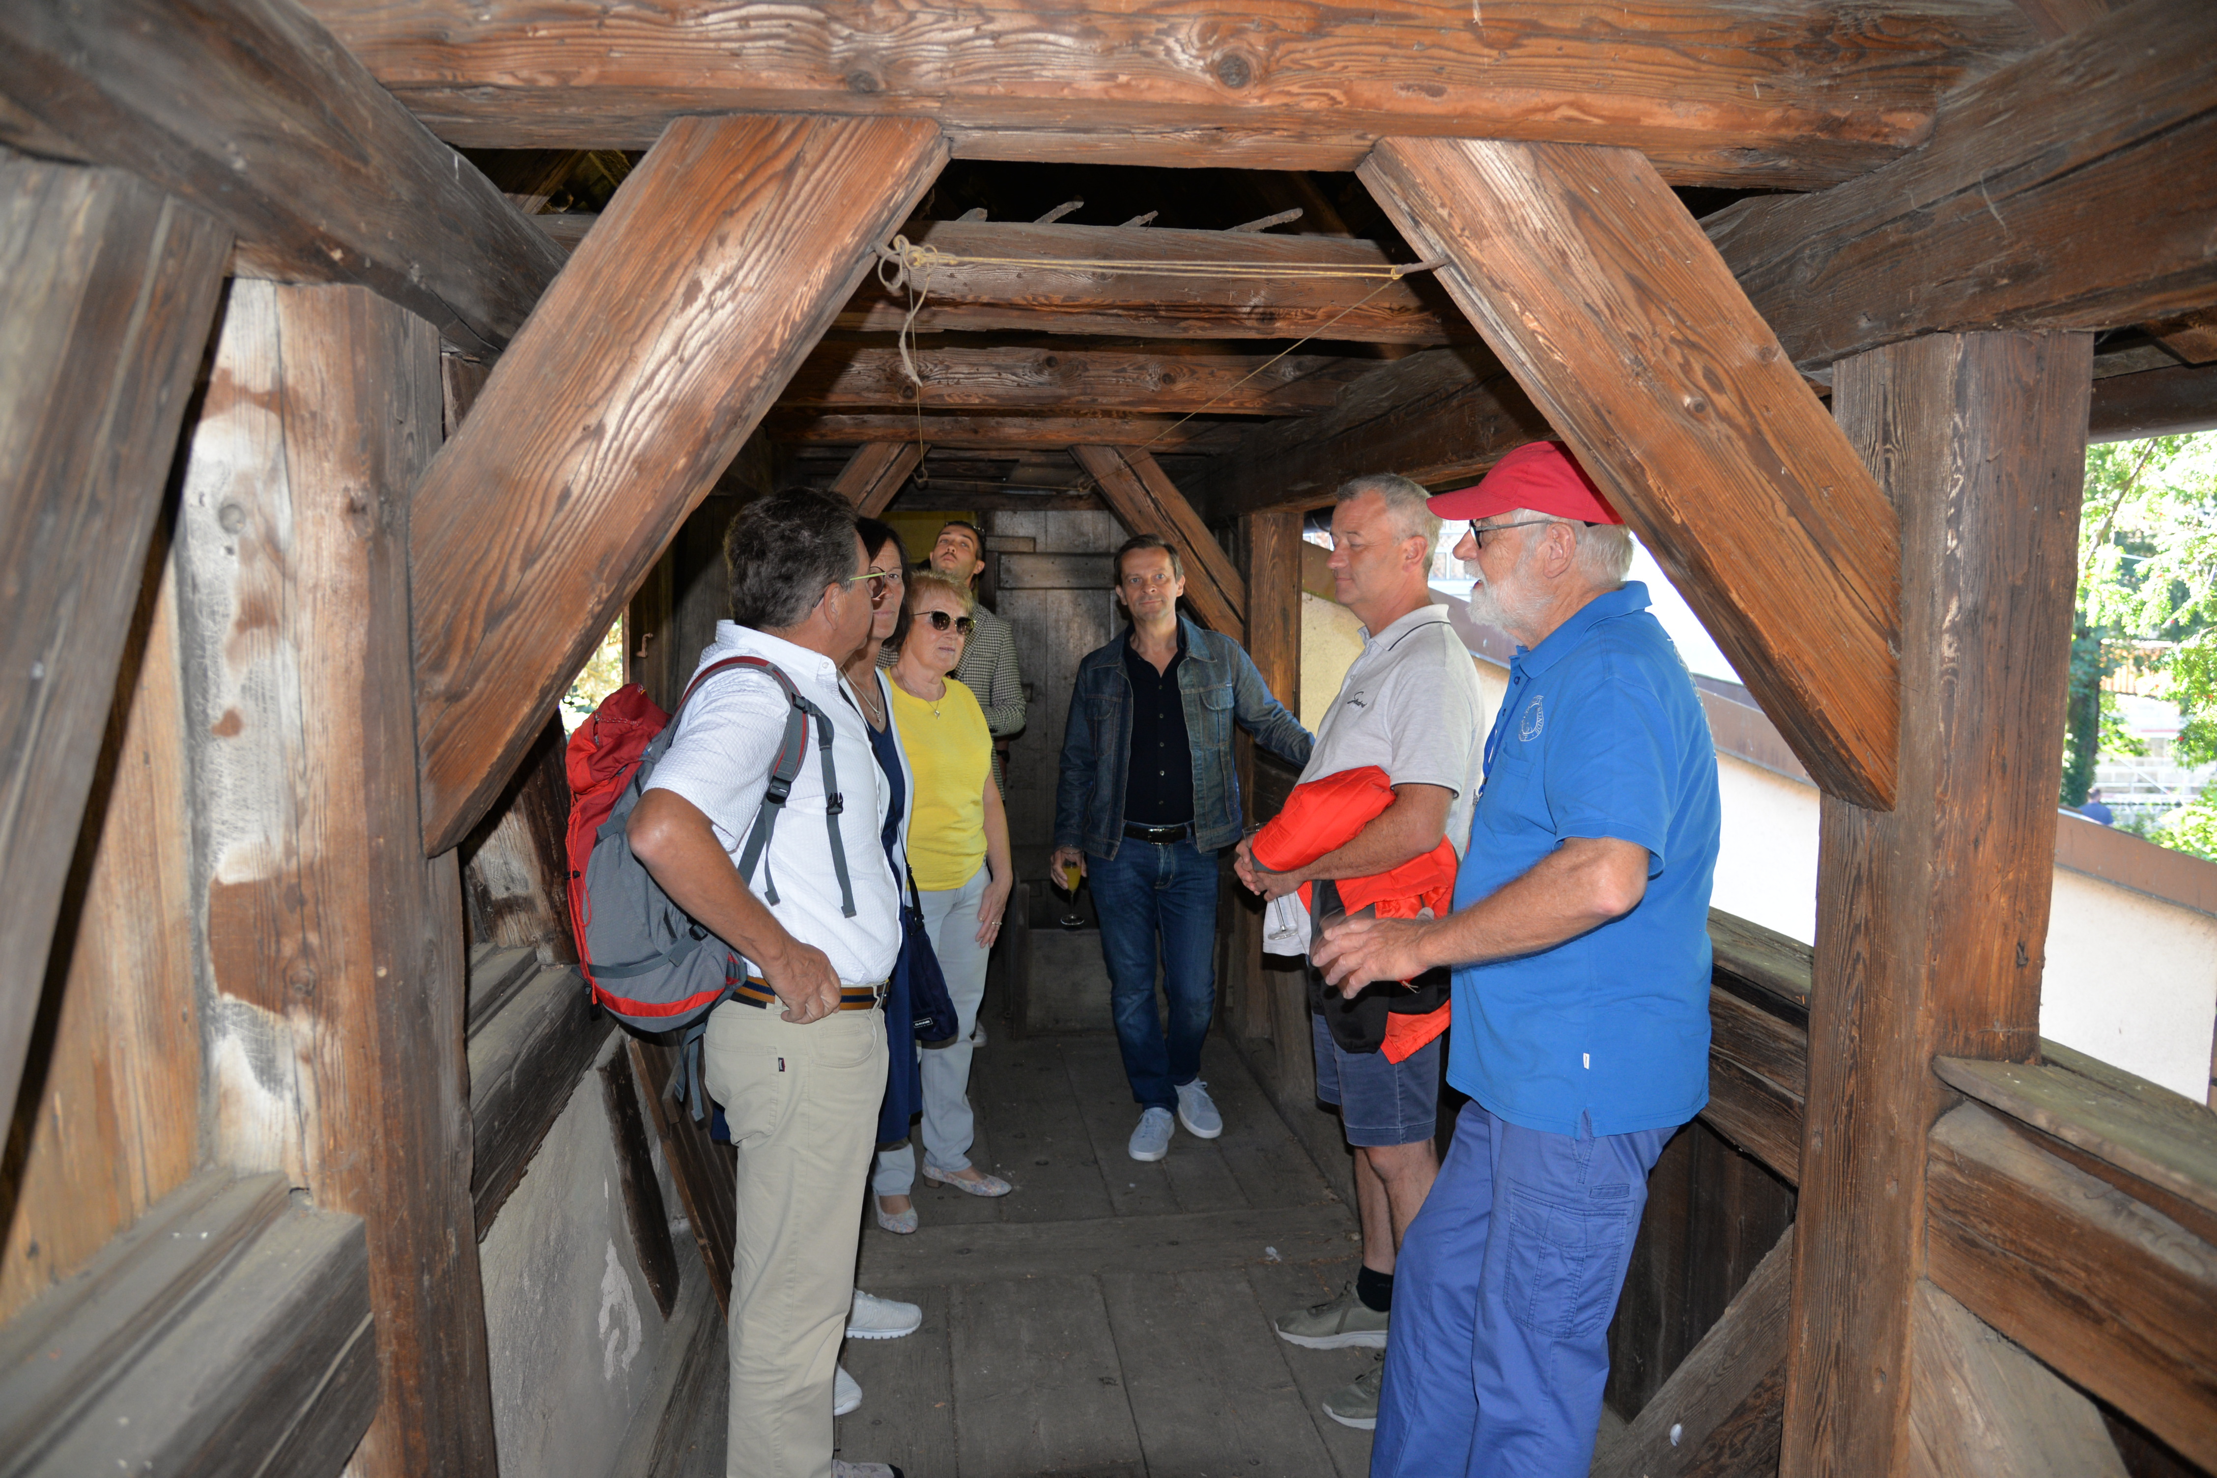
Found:
[[[1337,1478],[1242,1270],[1102,1279],[1148,1474]]]

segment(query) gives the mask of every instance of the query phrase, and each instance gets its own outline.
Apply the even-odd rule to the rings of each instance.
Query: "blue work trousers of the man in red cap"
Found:
[[[1463,1106],[1394,1263],[1370,1478],[1585,1478],[1610,1316],[1674,1132],[1550,1135]]]

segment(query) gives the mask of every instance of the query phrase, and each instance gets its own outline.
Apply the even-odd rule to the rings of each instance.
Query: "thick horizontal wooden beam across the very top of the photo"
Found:
[[[1641,148],[1678,184],[1780,188],[1909,146],[1964,69],[2035,40],[2000,2],[1235,0],[1206,24],[1038,0],[315,9],[441,137],[492,148],[643,148],[681,113],[869,111],[936,117],[969,157],[1346,171],[1390,133],[1561,137]]]

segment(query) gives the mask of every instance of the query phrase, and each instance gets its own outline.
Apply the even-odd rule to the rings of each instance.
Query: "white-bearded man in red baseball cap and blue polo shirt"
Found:
[[[1454,913],[1348,920],[1315,953],[1341,993],[1452,966],[1470,1095],[1401,1239],[1370,1478],[1583,1478],[1647,1172],[1709,1097],[1716,749],[1567,448],[1430,507],[1470,521],[1470,614],[1516,654]]]

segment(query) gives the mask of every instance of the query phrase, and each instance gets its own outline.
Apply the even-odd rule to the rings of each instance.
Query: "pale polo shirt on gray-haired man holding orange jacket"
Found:
[[[1483,711],[1479,671],[1448,612],[1419,605],[1377,636],[1363,632],[1301,780],[1377,764],[1392,784],[1443,784],[1454,791],[1448,840],[1461,858],[1485,769]]]

